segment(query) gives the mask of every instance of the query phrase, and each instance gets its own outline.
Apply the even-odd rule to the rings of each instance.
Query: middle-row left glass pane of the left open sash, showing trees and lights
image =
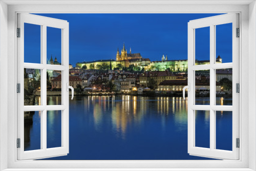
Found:
[[[41,70],[24,68],[24,105],[41,105]]]

